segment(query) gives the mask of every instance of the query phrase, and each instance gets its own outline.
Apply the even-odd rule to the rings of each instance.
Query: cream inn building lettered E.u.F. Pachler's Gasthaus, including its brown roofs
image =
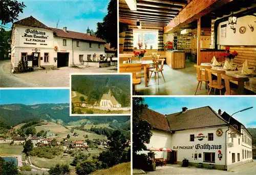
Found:
[[[227,170],[252,161],[252,136],[242,123],[225,112],[221,114],[221,110],[217,113],[209,106],[193,110],[183,107],[179,113],[162,115],[147,109],[141,117],[153,127],[146,147],[172,150],[155,151],[155,158],[164,155],[167,163],[182,164],[186,158],[192,166],[213,164],[216,169]]]

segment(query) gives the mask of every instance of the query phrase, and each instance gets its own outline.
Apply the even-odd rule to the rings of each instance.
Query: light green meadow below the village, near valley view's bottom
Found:
[[[70,164],[73,161],[73,157],[68,156],[56,156],[54,159],[46,159],[46,158],[38,158],[38,157],[30,157],[30,161],[33,165],[39,168],[51,168],[55,166],[57,163],[59,164]],[[71,169],[75,169],[75,167],[70,166]]]

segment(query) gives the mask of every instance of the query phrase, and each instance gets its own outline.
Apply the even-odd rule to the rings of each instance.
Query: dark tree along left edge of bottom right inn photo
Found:
[[[140,117],[146,108],[147,104],[144,103],[143,98],[133,98],[133,154],[146,149],[144,143],[148,143],[152,136],[151,124]]]

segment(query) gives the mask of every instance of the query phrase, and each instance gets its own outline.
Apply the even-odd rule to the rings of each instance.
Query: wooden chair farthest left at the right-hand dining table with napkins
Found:
[[[201,84],[200,84],[200,90],[201,90],[201,86],[202,86],[202,82],[203,81],[205,82],[206,90],[208,92],[208,82],[209,82],[209,79],[208,79],[208,73],[205,70],[205,68],[211,69],[211,66],[195,64],[194,67],[197,69],[197,80],[198,80],[197,89],[196,89],[195,95],[197,94],[197,90],[198,90],[198,86],[199,86],[200,82],[201,82]]]

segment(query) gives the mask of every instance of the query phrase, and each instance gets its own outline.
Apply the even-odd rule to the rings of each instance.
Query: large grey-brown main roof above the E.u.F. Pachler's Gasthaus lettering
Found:
[[[190,128],[209,127],[228,124],[210,106],[204,106],[167,115],[171,130],[183,130]]]

